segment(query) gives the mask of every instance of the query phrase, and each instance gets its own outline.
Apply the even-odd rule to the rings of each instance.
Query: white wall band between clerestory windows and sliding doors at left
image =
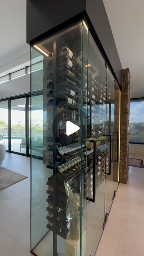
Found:
[[[0,98],[30,92],[30,74],[0,84]]]

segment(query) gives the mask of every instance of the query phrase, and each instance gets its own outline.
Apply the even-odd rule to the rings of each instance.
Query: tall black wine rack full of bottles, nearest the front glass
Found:
[[[69,184],[73,194],[80,195],[81,189],[86,193],[86,161],[84,159],[86,145],[84,141],[81,145],[80,132],[66,136],[61,127],[67,118],[72,122],[76,120],[78,124],[80,123],[81,65],[74,56],[69,56],[70,53],[72,55],[70,49],[65,48],[64,52],[60,52],[58,45],[59,43],[55,40],[52,56],[44,60],[44,110],[47,112],[44,163],[47,168],[53,170],[53,174],[47,181],[48,214],[46,218],[47,228],[53,232],[55,256],[57,255],[57,235],[66,239],[70,231],[70,218],[66,208],[68,196],[64,182]],[[85,120],[82,128],[83,138],[86,136],[84,127]]]

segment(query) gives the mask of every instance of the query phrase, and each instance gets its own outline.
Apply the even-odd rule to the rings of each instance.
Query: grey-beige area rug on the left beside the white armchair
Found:
[[[28,177],[0,166],[0,190],[26,178]]]

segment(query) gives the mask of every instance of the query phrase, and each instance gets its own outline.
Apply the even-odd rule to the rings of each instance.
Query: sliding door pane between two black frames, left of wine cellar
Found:
[[[11,100],[11,150],[26,154],[26,98]]]

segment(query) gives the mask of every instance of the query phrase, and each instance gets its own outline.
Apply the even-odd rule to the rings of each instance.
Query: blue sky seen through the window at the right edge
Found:
[[[130,102],[130,123],[144,122],[144,101]]]

